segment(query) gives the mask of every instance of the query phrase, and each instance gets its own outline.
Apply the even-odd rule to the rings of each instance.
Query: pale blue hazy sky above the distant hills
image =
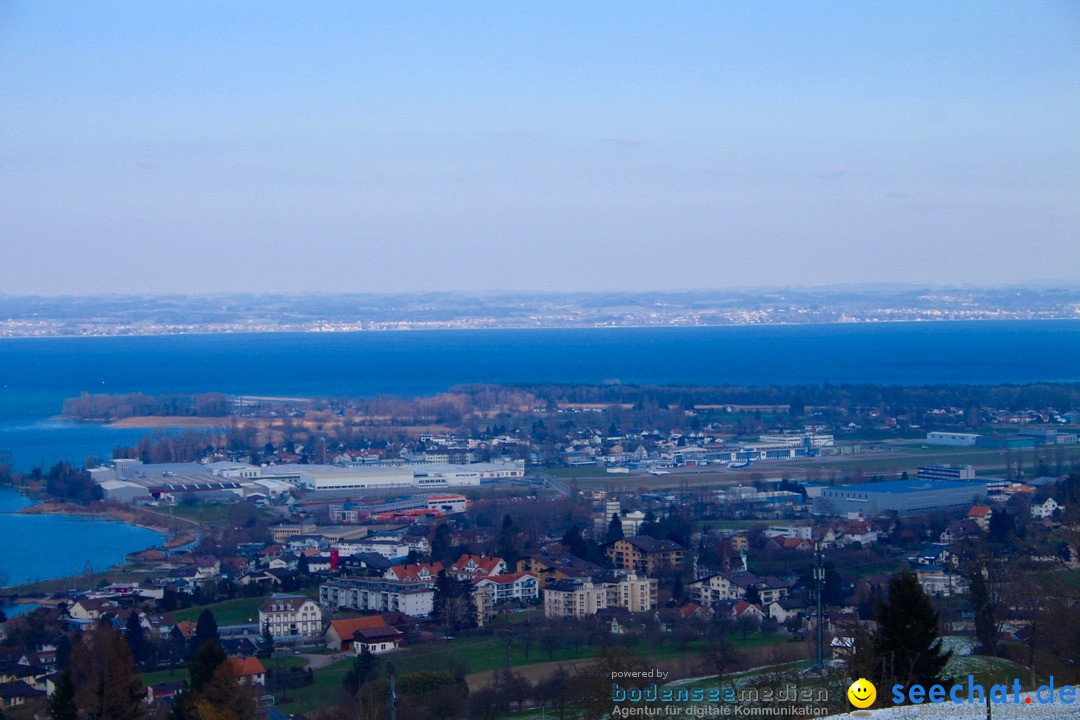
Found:
[[[0,293],[1080,282],[1080,3],[0,3]]]

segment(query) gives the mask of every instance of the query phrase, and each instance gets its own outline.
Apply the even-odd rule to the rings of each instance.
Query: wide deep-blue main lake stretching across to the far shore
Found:
[[[1080,380],[1080,321],[0,339],[0,452],[28,470],[145,431],[51,420],[89,392],[419,395],[465,382]]]

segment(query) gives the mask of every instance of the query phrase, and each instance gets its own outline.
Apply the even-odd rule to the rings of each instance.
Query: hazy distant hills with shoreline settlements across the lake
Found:
[[[0,337],[1080,320],[1080,287],[0,296]]]

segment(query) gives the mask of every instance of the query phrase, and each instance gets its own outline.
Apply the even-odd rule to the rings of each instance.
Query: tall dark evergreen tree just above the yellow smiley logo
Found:
[[[877,608],[874,649],[880,661],[880,687],[941,684],[951,651],[942,649],[937,611],[910,572],[893,575],[889,601]]]

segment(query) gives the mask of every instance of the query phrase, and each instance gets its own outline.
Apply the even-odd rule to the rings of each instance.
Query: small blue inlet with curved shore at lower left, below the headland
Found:
[[[154,530],[84,515],[23,515],[32,501],[0,488],[0,585],[81,575],[124,561],[129,553],[161,546]],[[89,563],[89,566],[87,566]]]

